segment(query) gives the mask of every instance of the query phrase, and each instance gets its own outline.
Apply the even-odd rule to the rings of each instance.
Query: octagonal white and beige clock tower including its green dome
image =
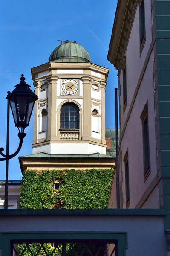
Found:
[[[32,68],[35,94],[33,154],[106,154],[105,86],[109,70],[92,64],[80,44],[57,46]]]

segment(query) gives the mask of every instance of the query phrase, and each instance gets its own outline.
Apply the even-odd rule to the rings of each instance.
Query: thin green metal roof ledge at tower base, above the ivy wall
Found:
[[[111,155],[105,155],[100,153],[94,153],[94,154],[47,154],[47,153],[37,153],[37,154],[31,154],[24,156],[26,157],[38,157],[38,158],[114,158]],[[19,157],[19,158],[24,158]]]

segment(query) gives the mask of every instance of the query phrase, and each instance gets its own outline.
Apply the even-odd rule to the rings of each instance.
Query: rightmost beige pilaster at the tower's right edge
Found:
[[[106,128],[105,128],[105,86],[106,82],[101,81],[101,143],[106,144]]]

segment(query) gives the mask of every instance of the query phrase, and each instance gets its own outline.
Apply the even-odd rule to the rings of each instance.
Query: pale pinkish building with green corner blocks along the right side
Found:
[[[121,208],[170,210],[169,15],[170,1],[118,1],[108,60],[118,70]]]

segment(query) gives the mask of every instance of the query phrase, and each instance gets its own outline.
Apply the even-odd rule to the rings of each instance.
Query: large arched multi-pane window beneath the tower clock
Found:
[[[75,105],[75,107],[78,108],[78,111],[62,111],[62,108],[65,106],[65,105]],[[66,121],[65,118],[67,117],[66,115],[64,115],[64,120],[61,120],[62,116],[61,116],[61,113],[64,112],[64,113],[78,113],[78,116],[70,116],[69,114],[69,121]],[[71,117],[78,117],[78,121],[74,120],[74,121],[71,121],[70,118]],[[64,122],[64,128],[61,128],[61,122]],[[69,122],[69,128],[65,128],[66,124],[65,122]],[[74,128],[70,128],[70,122],[74,122]],[[78,128],[75,128],[75,124],[77,123],[78,125]],[[79,131],[80,130],[80,108],[78,107],[77,104],[73,103],[73,102],[66,102],[64,103],[62,106],[61,106],[61,109],[60,109],[60,129],[59,131]]]

